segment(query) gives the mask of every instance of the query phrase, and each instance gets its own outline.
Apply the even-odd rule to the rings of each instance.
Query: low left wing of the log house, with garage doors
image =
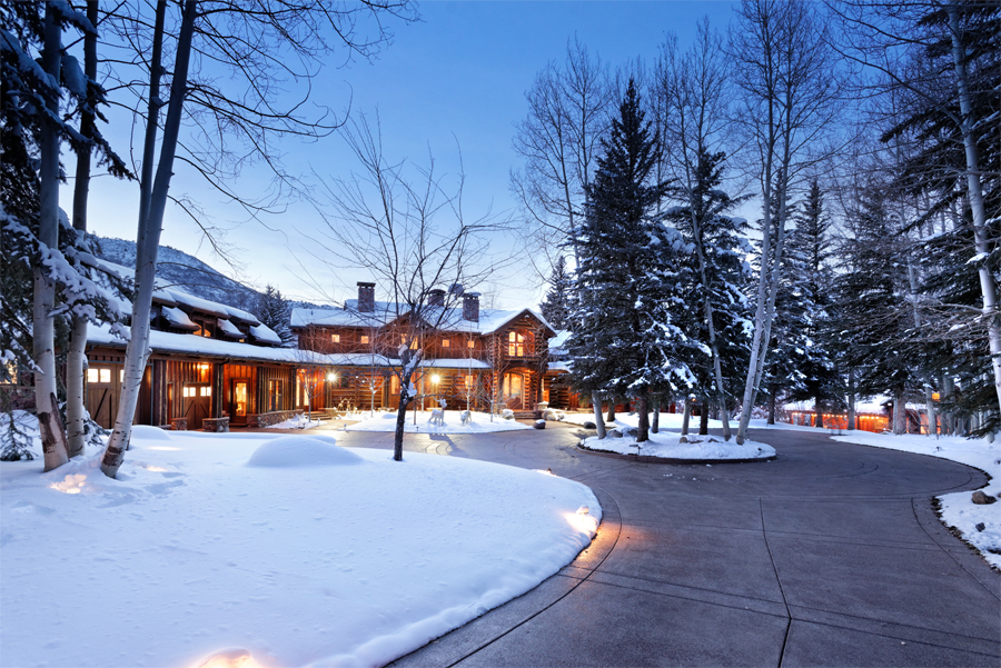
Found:
[[[100,261],[122,276],[129,269]],[[131,305],[122,303],[129,312]],[[283,348],[281,339],[254,315],[158,286],[150,312],[150,357],[135,423],[174,429],[228,430],[264,427],[306,410],[336,407],[344,385],[337,369],[388,365],[385,359],[317,355]],[[85,405],[92,419],[113,427],[123,375],[126,341],[108,326],[88,331]]]

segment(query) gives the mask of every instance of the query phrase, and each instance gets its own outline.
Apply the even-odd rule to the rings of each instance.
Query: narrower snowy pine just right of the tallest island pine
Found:
[[[685,258],[691,280],[685,286],[684,301],[701,308],[678,311],[677,321],[684,322],[690,339],[710,351],[707,358],[695,356],[690,361],[695,379],[691,390],[703,406],[700,432],[707,433],[708,412],[704,408],[716,403],[721,411],[729,412],[734,397],[732,386],[739,380],[734,373],[746,367],[744,322],[749,313],[743,291],[751,268],[744,261],[750,250],[743,237],[746,221],[726,215],[742,200],[720,188],[726,156],[703,149],[696,159],[691,191],[684,187],[671,189],[671,195],[686,203],[670,210],[667,219],[694,249]],[[729,427],[725,436],[729,439]]]

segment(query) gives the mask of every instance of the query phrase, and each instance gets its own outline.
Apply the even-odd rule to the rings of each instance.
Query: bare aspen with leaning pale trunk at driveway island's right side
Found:
[[[840,74],[816,8],[804,2],[745,0],[729,51],[742,89],[744,128],[761,187],[762,243],[754,333],[736,442],[746,438],[769,351],[791,190],[824,157],[821,141],[840,111]],[[772,212],[775,211],[773,220]]]

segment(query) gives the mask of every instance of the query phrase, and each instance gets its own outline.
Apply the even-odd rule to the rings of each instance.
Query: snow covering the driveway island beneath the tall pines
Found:
[[[775,448],[766,443],[745,440],[743,446],[732,439],[727,442],[721,436],[695,436],[690,433],[688,442],[680,442],[681,433],[661,430],[651,433],[650,440],[637,443],[634,437],[596,436],[584,439],[583,447],[589,450],[617,452],[620,455],[643,455],[645,457],[663,457],[665,459],[767,459],[775,456]]]

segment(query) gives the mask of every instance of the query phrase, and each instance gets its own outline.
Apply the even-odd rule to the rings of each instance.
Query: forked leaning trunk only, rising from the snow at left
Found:
[[[152,156],[156,150],[157,119],[159,118],[159,81],[162,73],[161,54],[163,42],[163,19],[166,0],[157,2],[156,27],[153,29],[153,54],[150,63],[149,114],[146,128],[146,146],[143,147],[142,181],[139,198],[139,232],[136,243],[136,299],[132,302],[131,338],[126,348],[125,380],[121,398],[118,403],[118,417],[115,430],[108,440],[108,447],[101,460],[101,470],[113,478],[125,460],[132,430],[136,407],[139,403],[139,390],[142,375],[149,359],[149,311],[152,305],[153,281],[157,272],[157,252],[160,245],[160,231],[163,226],[163,212],[167,208],[167,195],[170,177],[174,175],[174,156],[177,151],[177,138],[180,131],[181,112],[188,83],[188,63],[191,56],[191,38],[195,32],[195,17],[198,3],[186,0],[180,32],[177,40],[177,56],[174,64],[174,80],[170,83],[170,102],[167,119],[163,123],[163,138],[160,143],[160,159],[157,164],[156,180],[150,182]]]

